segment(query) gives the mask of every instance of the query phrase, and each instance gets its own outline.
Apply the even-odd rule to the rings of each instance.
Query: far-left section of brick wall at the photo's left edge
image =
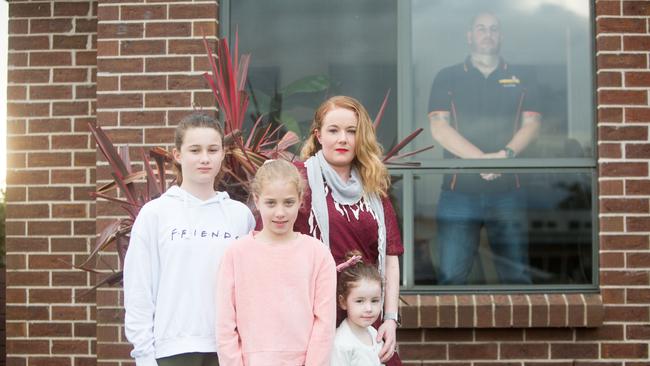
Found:
[[[94,364],[94,1],[9,3],[7,364]]]

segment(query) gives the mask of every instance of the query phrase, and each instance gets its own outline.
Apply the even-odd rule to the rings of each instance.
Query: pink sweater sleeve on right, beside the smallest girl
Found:
[[[329,366],[336,332],[336,268],[332,255],[323,250],[314,291],[314,325],[305,365]]]

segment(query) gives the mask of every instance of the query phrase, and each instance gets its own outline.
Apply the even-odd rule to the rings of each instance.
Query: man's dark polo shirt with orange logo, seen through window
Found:
[[[540,112],[537,83],[534,74],[526,68],[503,61],[486,78],[467,57],[465,62],[444,68],[436,75],[429,98],[429,112],[434,111],[450,112],[452,127],[481,151],[497,152],[521,128],[522,112]],[[447,150],[444,156],[454,157]],[[468,175],[459,175],[465,176]],[[480,177],[465,178],[465,182],[458,181],[458,188],[460,191],[511,189],[513,182],[503,178],[506,177],[493,181],[494,184]],[[449,189],[449,185],[445,184],[445,188]]]

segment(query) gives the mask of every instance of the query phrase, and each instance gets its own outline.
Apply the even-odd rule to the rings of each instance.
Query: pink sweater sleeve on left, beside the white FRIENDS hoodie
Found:
[[[241,341],[237,331],[237,304],[232,251],[227,250],[219,267],[217,282],[217,350],[219,365],[243,366]]]

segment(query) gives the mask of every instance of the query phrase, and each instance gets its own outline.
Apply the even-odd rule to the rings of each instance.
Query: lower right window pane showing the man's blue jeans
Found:
[[[415,284],[591,284],[591,174],[497,174],[416,174]]]

